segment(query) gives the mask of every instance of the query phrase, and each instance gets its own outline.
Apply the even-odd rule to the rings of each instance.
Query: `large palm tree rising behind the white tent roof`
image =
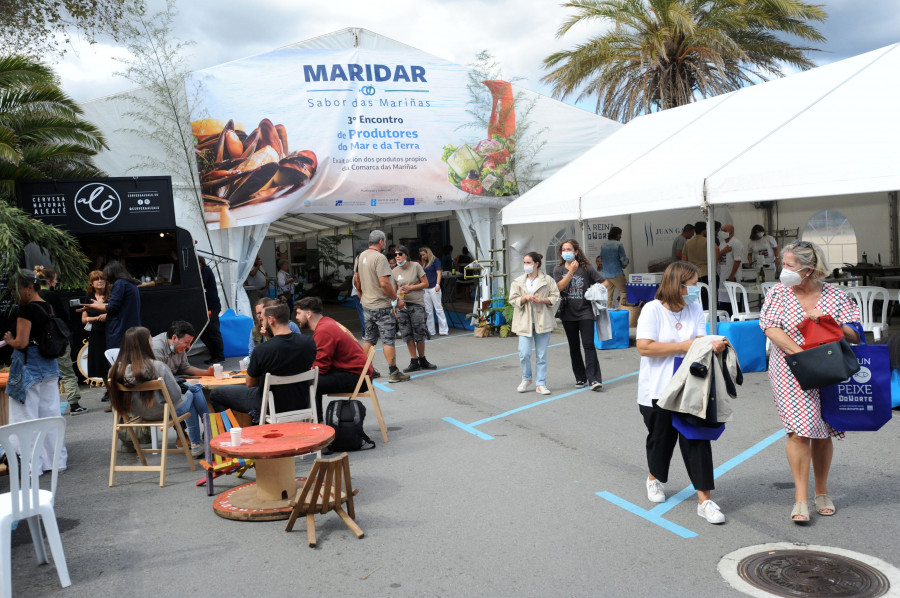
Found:
[[[598,21],[609,31],[544,59],[553,96],[596,96],[596,112],[628,120],[806,70],[816,48],[782,39],[825,41],[810,21],[827,18],[801,0],[571,0],[557,32]]]

